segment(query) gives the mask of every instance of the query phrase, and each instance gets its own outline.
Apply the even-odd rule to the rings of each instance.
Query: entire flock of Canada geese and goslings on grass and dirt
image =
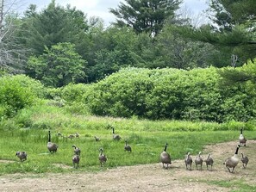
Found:
[[[76,134],[77,135],[74,136],[74,137],[78,137],[78,133],[76,133]],[[113,134],[113,139],[114,140],[122,139],[119,134],[115,133],[114,127],[112,127],[112,134]],[[99,137],[94,136],[94,138],[95,138],[96,141],[100,141]],[[234,152],[234,155],[232,157],[226,159],[226,161],[223,163],[223,164],[226,165],[226,167],[228,169],[228,172],[233,172],[234,168],[237,166],[237,164],[240,161],[242,162],[244,168],[247,167],[247,164],[249,162],[249,158],[247,156],[245,156],[242,152],[241,152],[241,158],[239,158],[239,156],[238,156],[238,151],[239,151],[240,146],[247,146],[246,143],[247,143],[247,139],[243,135],[243,130],[240,129],[239,144],[236,146],[236,150]],[[159,156],[159,160],[163,164],[164,169],[168,169],[169,164],[172,164],[171,155],[170,155],[170,153],[166,152],[167,146],[168,146],[168,144],[165,143],[164,151],[161,152],[160,156]],[[73,145],[72,147],[74,148],[74,155],[72,157],[72,164],[73,164],[74,168],[78,169],[81,150],[80,150],[80,148],[78,148],[75,145]],[[57,152],[57,150],[58,150],[57,144],[51,142],[51,132],[50,131],[48,131],[47,149],[50,153]],[[128,145],[128,140],[125,140],[124,151],[132,152],[132,147]],[[199,152],[197,157],[194,160],[194,162],[196,164],[196,167],[197,167],[197,170],[198,170],[198,166],[200,167],[200,170],[202,170],[203,162],[205,162],[205,164],[207,166],[207,170],[209,170],[209,166],[211,167],[210,170],[212,170],[214,160],[211,157],[211,154],[209,153],[207,158],[204,159],[204,160],[201,157],[201,154],[202,154],[202,152]],[[186,170],[191,170],[192,169],[191,166],[192,166],[192,163],[193,163],[193,159],[191,158],[190,155],[191,155],[190,152],[188,152],[186,154],[185,158],[184,158],[184,164],[185,164]],[[27,152],[16,152],[16,156],[18,158],[20,158],[21,162],[23,162],[23,161],[27,160],[28,154],[27,154]],[[98,160],[99,160],[99,163],[100,163],[101,166],[103,166],[103,164],[105,164],[108,160],[108,158],[103,153],[103,148],[102,147],[99,149]],[[166,166],[165,166],[165,164],[166,164]]]

